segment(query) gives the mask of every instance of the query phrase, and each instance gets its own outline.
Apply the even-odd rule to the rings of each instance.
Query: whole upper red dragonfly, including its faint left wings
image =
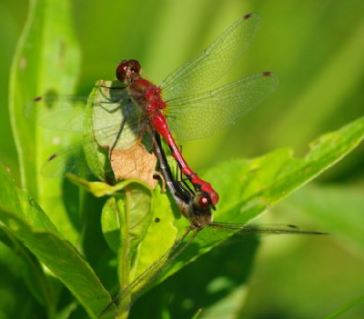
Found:
[[[181,173],[187,177],[197,193],[203,194],[206,204],[214,209],[218,203],[216,190],[189,167],[179,151],[176,140],[196,139],[214,134],[233,124],[238,116],[258,105],[277,88],[278,76],[271,72],[262,72],[207,90],[226,75],[247,51],[258,33],[260,24],[261,18],[258,14],[240,17],[203,52],[178,67],[158,86],[142,77],[141,66],[137,60],[123,60],[117,65],[118,85],[108,87],[100,85],[101,89],[108,89],[112,93],[108,104],[116,106],[109,112],[111,115],[116,115],[119,111],[124,119],[133,114],[133,110],[137,110],[137,115],[128,123],[131,128],[129,133],[123,130],[126,120],[95,130],[102,132],[102,135],[113,136],[114,142],[108,145],[109,154],[119,140],[129,140],[130,134],[140,139],[147,127],[152,127],[167,142]],[[39,97],[35,103],[50,99],[52,99],[50,96]],[[106,103],[93,105],[95,109],[103,109],[105,106]],[[79,120],[82,117],[78,113],[75,120],[72,107],[64,106],[56,109],[60,110],[52,115],[56,121],[63,119],[66,126],[82,123]],[[62,126],[54,125],[55,120],[44,122],[53,128]],[[86,144],[83,145],[85,148]],[[57,162],[61,157],[62,155],[51,156],[48,164]],[[75,166],[72,160],[71,163]],[[68,166],[67,169],[72,169],[74,166]]]

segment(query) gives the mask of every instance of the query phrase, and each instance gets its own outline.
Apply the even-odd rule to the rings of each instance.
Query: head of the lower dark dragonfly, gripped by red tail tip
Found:
[[[211,224],[211,208],[212,205],[208,200],[208,197],[197,192],[194,194],[188,209],[189,222],[197,227],[204,227],[207,224]]]

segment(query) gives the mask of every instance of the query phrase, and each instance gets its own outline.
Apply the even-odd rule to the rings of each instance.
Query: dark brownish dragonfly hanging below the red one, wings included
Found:
[[[197,237],[197,234],[200,234],[207,229],[212,232],[212,235],[217,234],[217,232],[224,232],[227,234],[227,237],[247,234],[326,234],[316,231],[301,230],[298,226],[292,224],[257,225],[213,222],[211,213],[213,207],[212,204],[207,201],[205,195],[201,192],[194,191],[184,181],[177,180],[177,178],[174,177],[167,162],[167,155],[163,149],[161,138],[157,132],[155,132],[153,143],[154,152],[157,155],[159,168],[167,184],[167,188],[170,194],[172,194],[180,212],[187,217],[189,226],[185,233],[177,239],[175,244],[173,244],[157,262],[149,266],[147,270],[136,277],[131,284],[116,295],[112,302],[103,310],[101,316],[115,307],[117,309],[116,311],[127,311],[130,305],[136,302],[136,299],[150,288],[152,282],[166,269],[167,265],[176,261],[178,255],[182,254],[187,249],[188,245]],[[126,303],[124,301],[126,301]],[[124,309],[118,309],[120,305],[122,305]]]

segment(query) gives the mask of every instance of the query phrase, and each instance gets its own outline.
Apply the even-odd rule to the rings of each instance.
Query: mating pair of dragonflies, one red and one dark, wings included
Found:
[[[148,133],[167,188],[181,213],[190,222],[185,234],[166,254],[163,254],[155,264],[117,294],[102,314],[106,314],[118,304],[125,306],[126,304],[122,301],[126,298],[129,298],[132,303],[141,292],[145,291],[142,284],[146,281],[150,283],[155,279],[157,274],[160,274],[167,264],[172,263],[197,234],[207,227],[223,229],[231,234],[321,234],[302,231],[293,225],[265,227],[212,222],[211,212],[216,209],[218,194],[211,184],[200,178],[189,167],[172,135],[173,132],[178,140],[211,135],[226,125],[234,123],[238,116],[258,105],[277,88],[277,76],[270,72],[263,72],[217,89],[204,91],[225,75],[244,54],[256,36],[259,26],[258,15],[250,14],[241,17],[200,55],[168,75],[160,86],[153,85],[141,76],[141,67],[136,60],[124,60],[116,69],[119,85],[106,87],[110,93],[108,102],[98,101],[92,104],[94,116],[97,110],[105,109],[111,117],[115,117],[117,112],[122,116],[120,122],[114,119],[113,125],[98,125],[97,128],[94,125],[90,143],[88,144],[87,141],[83,143],[84,150],[88,147],[87,145],[92,145],[91,142],[94,142],[95,138],[96,140],[97,137],[106,139],[107,153],[112,160],[111,157],[120,142],[123,144],[126,141],[129,147],[135,145],[136,141],[140,141]],[[79,118],[83,119],[83,115],[79,115],[78,110],[75,111],[72,100],[72,97],[68,97],[67,104],[64,104],[69,106],[53,105],[57,113],[53,114],[53,118],[62,118],[63,122],[69,126],[82,123],[83,121]],[[79,98],[74,100],[80,101]],[[52,101],[51,96],[43,96],[35,99],[35,104],[49,101]],[[54,104],[55,101],[60,101],[59,97],[56,97],[52,103]],[[108,107],[110,105],[111,108]],[[77,120],[75,120],[75,112],[77,112]],[[43,119],[45,125],[53,128],[60,126],[54,121],[50,123],[48,119],[49,117]],[[82,129],[81,125],[80,130]],[[171,172],[160,136],[166,141],[181,175],[184,176],[180,180],[177,180]],[[67,160],[65,160],[66,157]],[[68,157],[67,152],[52,155],[46,167],[56,167],[57,163],[62,163],[62,169],[56,170],[57,172],[76,172],[78,161],[72,162]]]

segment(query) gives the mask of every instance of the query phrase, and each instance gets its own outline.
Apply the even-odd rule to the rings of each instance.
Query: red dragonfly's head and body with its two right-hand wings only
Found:
[[[116,69],[117,79],[126,85],[128,93],[146,113],[148,123],[166,140],[182,174],[205,195],[208,204],[217,204],[217,192],[188,166],[171,131],[181,139],[211,135],[277,87],[277,77],[263,72],[200,93],[237,62],[259,25],[258,15],[244,15],[201,54],[168,75],[160,86],[141,77],[141,67],[136,60],[124,60]],[[191,95],[191,92],[197,94]]]

